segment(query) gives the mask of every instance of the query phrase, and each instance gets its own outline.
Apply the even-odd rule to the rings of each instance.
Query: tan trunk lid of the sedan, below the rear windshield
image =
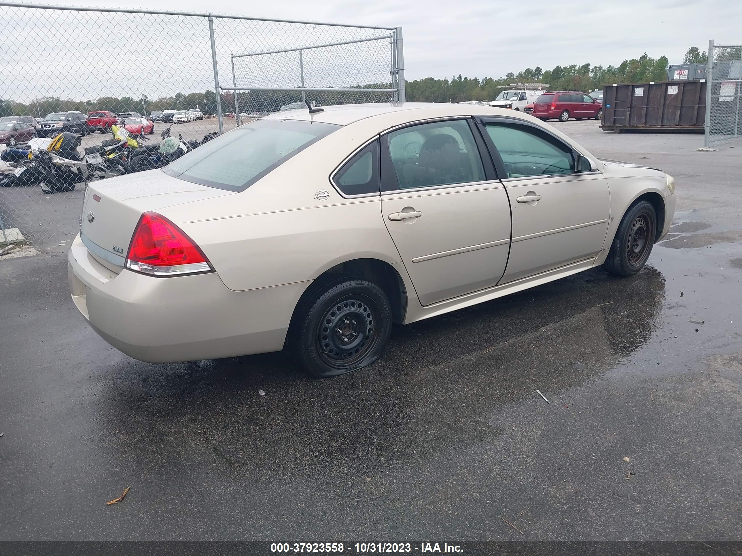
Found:
[[[83,199],[80,235],[93,257],[119,272],[142,213],[224,195],[234,193],[185,182],[160,170],[91,182]]]

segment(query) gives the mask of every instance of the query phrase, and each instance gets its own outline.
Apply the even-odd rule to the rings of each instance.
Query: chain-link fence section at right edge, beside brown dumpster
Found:
[[[742,136],[742,44],[709,41],[706,148]]]

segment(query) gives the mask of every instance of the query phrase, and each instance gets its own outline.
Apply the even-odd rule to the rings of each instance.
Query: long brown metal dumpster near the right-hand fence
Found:
[[[603,86],[603,131],[703,133],[705,116],[704,79]]]

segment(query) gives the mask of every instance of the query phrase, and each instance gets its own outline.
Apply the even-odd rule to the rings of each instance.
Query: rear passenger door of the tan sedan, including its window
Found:
[[[381,215],[421,304],[496,285],[510,206],[469,120],[411,125],[381,145]]]

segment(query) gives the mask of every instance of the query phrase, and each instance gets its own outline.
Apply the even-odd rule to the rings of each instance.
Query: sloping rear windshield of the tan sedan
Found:
[[[162,171],[210,188],[244,191],[299,151],[340,128],[303,120],[256,120],[211,139]]]

